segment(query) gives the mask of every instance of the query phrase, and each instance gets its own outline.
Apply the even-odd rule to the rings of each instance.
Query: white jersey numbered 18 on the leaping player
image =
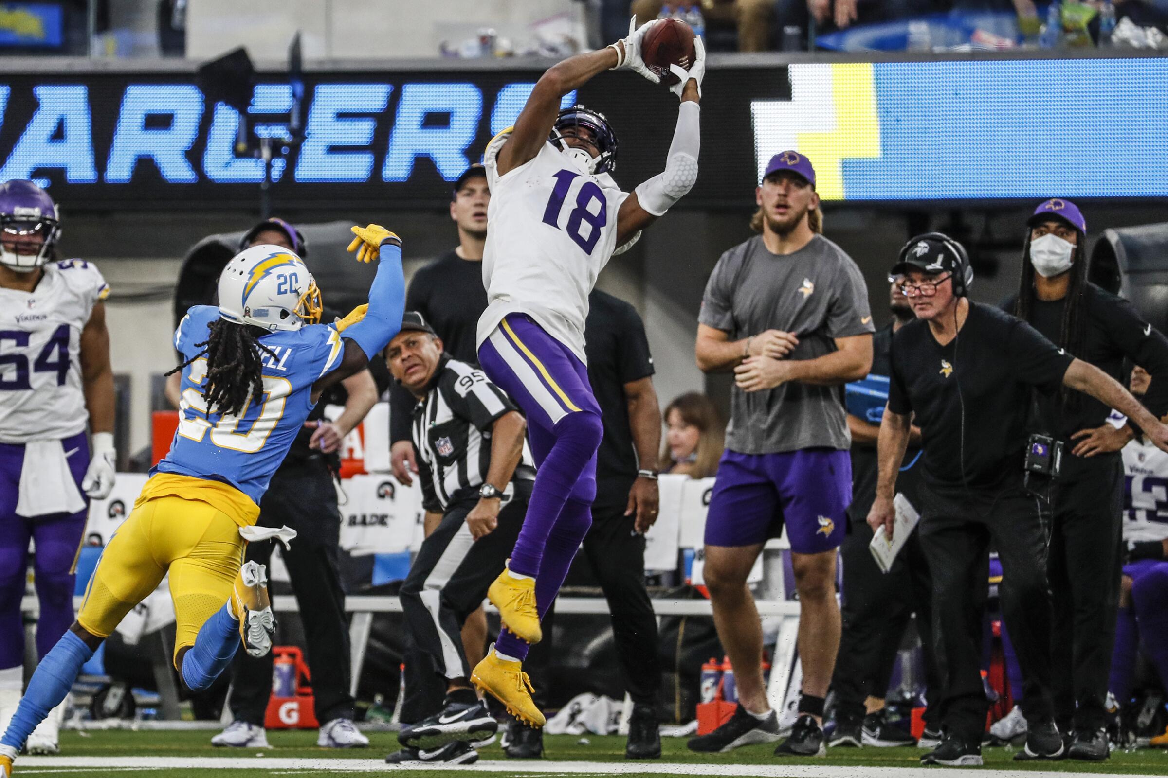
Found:
[[[487,309],[479,318],[478,342],[503,316],[523,313],[586,363],[588,295],[617,248],[617,212],[628,192],[550,142],[533,160],[499,175],[495,157],[506,139],[492,140],[484,159],[491,229],[482,254]]]

